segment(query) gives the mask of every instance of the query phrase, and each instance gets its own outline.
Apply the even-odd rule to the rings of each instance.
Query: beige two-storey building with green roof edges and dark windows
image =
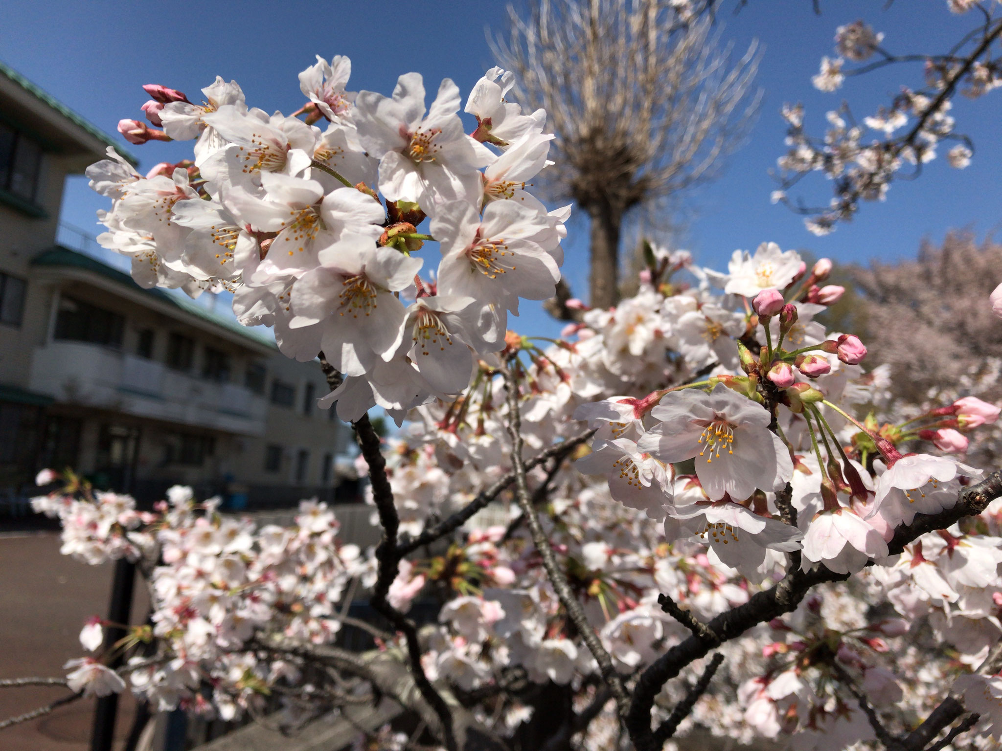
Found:
[[[65,176],[108,144],[0,65],[0,504],[50,466],[147,502],[176,483],[236,508],[354,500],[318,362],[57,244]]]

